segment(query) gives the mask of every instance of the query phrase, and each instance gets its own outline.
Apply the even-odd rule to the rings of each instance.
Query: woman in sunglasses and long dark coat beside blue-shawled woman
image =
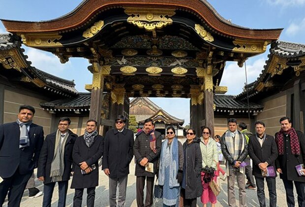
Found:
[[[200,139],[195,137],[195,130],[188,129],[186,141],[183,143],[184,162],[181,195],[184,207],[196,207],[197,198],[202,194]]]

